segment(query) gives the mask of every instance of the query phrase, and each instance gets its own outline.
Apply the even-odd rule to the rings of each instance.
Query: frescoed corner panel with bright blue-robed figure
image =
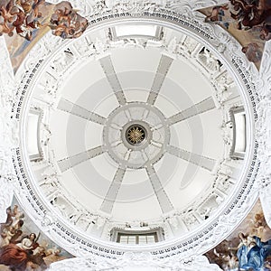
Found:
[[[271,229],[260,201],[229,238],[205,254],[223,270],[271,270]]]

